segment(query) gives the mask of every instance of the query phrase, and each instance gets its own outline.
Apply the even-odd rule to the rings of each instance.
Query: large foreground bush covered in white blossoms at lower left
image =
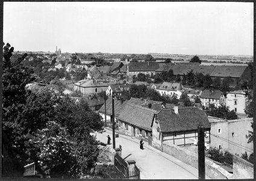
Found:
[[[68,177],[72,175],[75,156],[72,155],[74,143],[67,130],[54,121],[39,130],[33,140],[37,148],[37,165],[46,177]]]

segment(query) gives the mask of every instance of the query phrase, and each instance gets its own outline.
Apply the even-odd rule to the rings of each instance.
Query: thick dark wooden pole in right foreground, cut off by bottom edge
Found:
[[[202,125],[198,129],[198,179],[205,179],[205,133]]]

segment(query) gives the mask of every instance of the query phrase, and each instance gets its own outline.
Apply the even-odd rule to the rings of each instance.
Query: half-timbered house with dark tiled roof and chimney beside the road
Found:
[[[197,107],[178,107],[162,109],[152,120],[152,147],[162,150],[165,145],[189,146],[198,140],[197,127],[202,125],[205,133],[210,133],[211,125],[206,113]],[[210,136],[205,138],[210,142]]]

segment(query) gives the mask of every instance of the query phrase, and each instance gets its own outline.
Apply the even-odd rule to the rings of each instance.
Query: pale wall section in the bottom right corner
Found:
[[[238,156],[233,156],[233,179],[253,179],[254,165]]]

